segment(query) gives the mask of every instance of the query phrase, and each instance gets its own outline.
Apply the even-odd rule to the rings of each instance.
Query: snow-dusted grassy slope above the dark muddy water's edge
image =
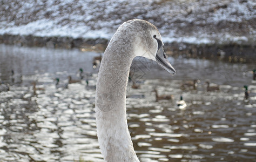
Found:
[[[4,0],[0,35],[110,39],[120,24],[140,18],[168,43],[255,42],[255,6],[253,0]]]

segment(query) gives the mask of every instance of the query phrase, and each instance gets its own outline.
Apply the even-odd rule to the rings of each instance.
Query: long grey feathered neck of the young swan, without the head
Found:
[[[96,86],[97,136],[105,161],[139,161],[128,130],[125,107],[133,53],[122,46],[119,48],[110,42],[100,64]]]

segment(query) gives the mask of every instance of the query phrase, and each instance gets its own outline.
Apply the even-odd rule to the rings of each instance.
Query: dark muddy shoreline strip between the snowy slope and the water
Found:
[[[18,46],[37,46],[47,48],[72,49],[82,51],[103,52],[109,43],[108,39],[84,39],[71,37],[38,37],[20,35],[0,35],[0,43]],[[165,43],[167,55],[172,57],[187,57],[224,60],[230,63],[256,63],[256,46],[248,44],[189,44]]]

